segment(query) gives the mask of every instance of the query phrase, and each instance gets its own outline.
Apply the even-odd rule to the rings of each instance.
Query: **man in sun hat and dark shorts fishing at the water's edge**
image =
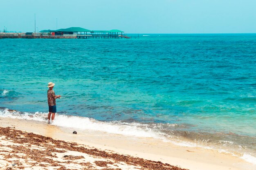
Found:
[[[56,101],[55,101],[55,99],[61,97],[61,95],[55,95],[54,91],[52,90],[54,85],[55,84],[52,83],[52,82],[48,83],[48,87],[49,87],[49,90],[47,91],[48,106],[49,106],[48,124],[50,124],[51,115],[52,115],[52,123],[54,121],[54,117],[55,117],[55,113],[56,113]]]

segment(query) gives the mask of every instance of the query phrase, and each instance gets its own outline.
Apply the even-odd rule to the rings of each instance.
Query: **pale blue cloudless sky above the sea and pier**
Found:
[[[256,0],[0,0],[0,30],[256,33]]]

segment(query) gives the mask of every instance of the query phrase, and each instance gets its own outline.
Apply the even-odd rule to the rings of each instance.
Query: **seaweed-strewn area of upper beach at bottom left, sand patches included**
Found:
[[[0,170],[186,170],[10,127],[0,127],[0,136]]]

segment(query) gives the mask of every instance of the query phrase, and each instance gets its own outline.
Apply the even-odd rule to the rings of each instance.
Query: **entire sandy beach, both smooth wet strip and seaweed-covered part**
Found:
[[[153,138],[116,135],[0,118],[4,169],[253,170],[216,150],[176,146]],[[77,135],[72,134],[76,130]],[[2,170],[1,169],[1,170]]]

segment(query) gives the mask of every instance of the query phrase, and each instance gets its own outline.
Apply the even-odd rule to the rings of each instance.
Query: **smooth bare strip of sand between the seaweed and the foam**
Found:
[[[189,170],[252,170],[255,168],[253,164],[228,153],[198,147],[177,146],[160,139],[65,128],[40,121],[5,117],[0,117],[0,127],[15,127],[18,130],[33,132],[53,139],[76,142],[101,150],[112,150],[121,155],[161,161]],[[77,135],[72,134],[74,130],[77,131]]]

